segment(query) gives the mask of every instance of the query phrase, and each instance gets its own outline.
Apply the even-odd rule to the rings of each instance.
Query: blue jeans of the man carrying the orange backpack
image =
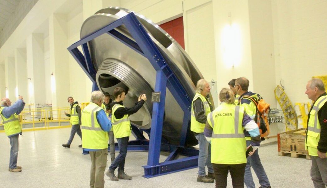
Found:
[[[246,141],[246,145],[249,146],[251,144],[251,140]],[[255,188],[255,184],[253,182],[252,174],[251,174],[251,166],[258,177],[259,183],[261,187],[267,188],[270,186],[267,174],[265,172],[264,167],[261,164],[259,158],[259,150],[257,149],[253,155],[248,157],[248,161],[245,167],[245,174],[244,174],[244,183],[247,188]]]

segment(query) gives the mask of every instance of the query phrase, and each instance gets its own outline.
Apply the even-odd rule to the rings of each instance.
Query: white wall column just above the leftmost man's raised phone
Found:
[[[25,101],[28,99],[28,85],[27,85],[27,64],[26,64],[26,49],[17,48],[15,50],[15,72],[16,72],[16,92],[18,95],[24,97]]]

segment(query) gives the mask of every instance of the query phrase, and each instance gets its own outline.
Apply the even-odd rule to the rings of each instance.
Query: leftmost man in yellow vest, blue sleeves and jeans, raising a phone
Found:
[[[17,166],[18,158],[18,137],[22,135],[21,124],[19,123],[18,114],[22,112],[25,107],[23,97],[19,96],[18,100],[11,106],[9,98],[1,99],[0,114],[6,135],[10,141],[10,158],[9,158],[9,172],[22,171],[21,166]]]

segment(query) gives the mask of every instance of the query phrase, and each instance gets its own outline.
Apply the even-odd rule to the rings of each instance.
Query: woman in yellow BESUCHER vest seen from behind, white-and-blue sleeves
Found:
[[[258,125],[246,114],[244,107],[235,106],[232,90],[223,88],[219,100],[221,104],[208,114],[204,128],[204,136],[211,143],[216,188],[227,187],[228,171],[233,187],[244,188],[247,147],[243,130],[250,133],[252,143],[248,148],[253,149],[249,153],[252,155],[261,142]]]

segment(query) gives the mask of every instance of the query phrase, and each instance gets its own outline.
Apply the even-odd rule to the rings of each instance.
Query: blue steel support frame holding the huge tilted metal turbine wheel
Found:
[[[125,27],[128,29],[131,36],[136,42],[132,41],[128,37],[115,30],[116,27],[122,24],[125,25]],[[137,20],[134,13],[129,13],[125,17],[112,22],[111,24],[103,27],[102,29],[96,31],[95,33],[89,36],[84,37],[80,41],[74,43],[73,45],[67,48],[68,51],[72,54],[72,56],[75,58],[75,60],[78,62],[78,64],[82,67],[84,72],[93,81],[94,84],[92,90],[94,91],[98,88],[95,82],[96,71],[94,70],[91,56],[88,50],[88,42],[96,38],[97,36],[100,36],[105,33],[113,36],[114,38],[124,43],[134,51],[146,57],[157,72],[155,92],[160,92],[161,95],[160,102],[153,104],[150,142],[147,142],[144,139],[138,139],[129,143],[129,145],[137,145],[135,147],[129,146],[129,150],[149,151],[147,165],[143,166],[145,173],[144,177],[151,178],[167,173],[197,167],[198,150],[184,148],[187,130],[190,125],[192,99],[188,96],[188,94],[182,87],[180,81],[177,79],[176,75],[167,65],[167,62],[163,58],[161,52],[151,40],[143,25]],[[85,56],[77,49],[78,46],[82,46],[83,53]],[[163,111],[166,88],[169,89],[169,91],[172,93],[172,95],[175,97],[176,101],[178,102],[178,104],[180,104],[182,110],[184,111],[180,146],[172,146],[169,144],[162,143]],[[160,150],[171,152],[171,154],[163,163],[159,163]],[[183,154],[189,157],[175,160],[175,157],[178,154]]]

